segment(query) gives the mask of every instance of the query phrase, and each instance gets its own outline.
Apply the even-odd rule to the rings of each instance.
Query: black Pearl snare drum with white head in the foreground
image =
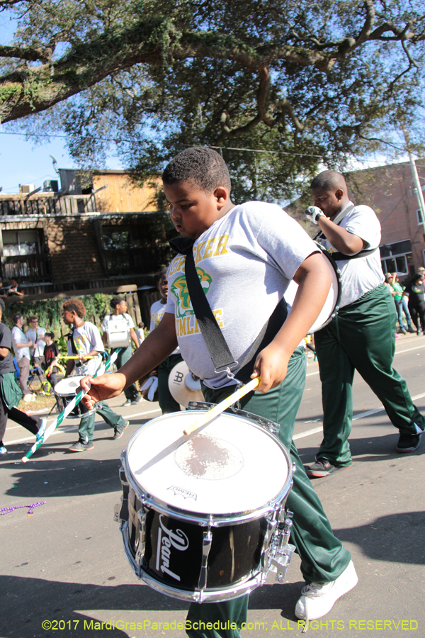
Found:
[[[295,549],[284,510],[293,469],[270,431],[279,426],[237,410],[183,435],[201,414],[166,414],[137,430],[115,509],[135,575],[197,603],[249,593],[271,570],[282,580]]]

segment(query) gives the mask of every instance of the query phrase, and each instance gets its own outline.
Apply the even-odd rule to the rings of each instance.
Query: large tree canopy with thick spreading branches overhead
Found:
[[[85,168],[116,147],[144,180],[183,147],[210,145],[229,163],[236,201],[277,201],[321,165],[397,149],[402,126],[419,145],[421,0],[0,7],[18,18],[13,43],[0,47],[2,121],[30,118],[21,125],[34,133],[55,122]]]

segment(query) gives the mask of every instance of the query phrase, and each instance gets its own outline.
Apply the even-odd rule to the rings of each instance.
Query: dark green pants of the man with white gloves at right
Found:
[[[396,323],[395,303],[382,284],[341,308],[331,323],[314,334],[324,415],[324,438],[317,459],[351,466],[348,437],[355,369],[402,434],[415,435],[414,423],[425,429],[425,418],[413,404],[406,381],[392,367]]]

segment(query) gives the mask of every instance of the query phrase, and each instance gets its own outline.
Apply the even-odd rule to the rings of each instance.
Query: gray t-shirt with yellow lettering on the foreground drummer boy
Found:
[[[217,323],[237,361],[283,297],[289,281],[317,246],[279,206],[252,201],[232,208],[193,245],[198,276]],[[186,257],[168,270],[167,313],[174,313],[181,356],[206,386],[232,384],[216,374],[193,314],[184,276]],[[237,376],[237,371],[236,371]]]

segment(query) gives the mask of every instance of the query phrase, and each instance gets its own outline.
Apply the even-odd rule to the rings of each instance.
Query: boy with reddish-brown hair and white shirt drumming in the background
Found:
[[[95,374],[101,365],[101,353],[104,349],[101,333],[94,323],[84,321],[86,308],[80,299],[68,299],[62,308],[64,323],[72,328],[68,335],[68,354],[69,356],[79,356],[79,360],[68,359],[65,376],[70,376],[74,369],[78,375]],[[89,359],[88,357],[94,358]],[[113,438],[120,439],[125,428],[129,425],[128,421],[113,412],[107,403],[101,402],[99,405],[100,409],[96,411],[110,427],[113,427]],[[71,452],[85,452],[94,448],[94,417],[95,414],[92,413],[81,419],[78,428],[79,440],[69,448]]]

